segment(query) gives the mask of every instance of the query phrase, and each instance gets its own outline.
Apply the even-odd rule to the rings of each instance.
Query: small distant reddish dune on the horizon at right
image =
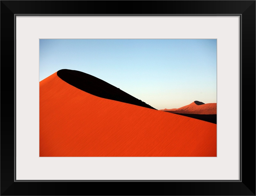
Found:
[[[178,114],[217,114],[217,103],[197,105],[192,102],[178,109],[163,109],[160,111],[174,111],[174,113]]]

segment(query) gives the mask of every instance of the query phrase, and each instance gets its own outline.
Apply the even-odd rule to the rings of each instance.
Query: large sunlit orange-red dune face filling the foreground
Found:
[[[217,126],[40,82],[39,156],[217,156]]]

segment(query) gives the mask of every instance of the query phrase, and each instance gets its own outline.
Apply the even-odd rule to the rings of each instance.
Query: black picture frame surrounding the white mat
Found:
[[[1,195],[255,195],[255,0],[253,1],[1,1]],[[240,180],[15,180],[16,15],[240,16]]]

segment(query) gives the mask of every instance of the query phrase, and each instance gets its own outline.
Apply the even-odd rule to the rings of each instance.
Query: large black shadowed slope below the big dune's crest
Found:
[[[68,84],[92,95],[105,99],[124,102],[127,104],[155,109],[154,107],[151,107],[145,102],[138,100],[134,96],[131,96],[128,93],[120,90],[119,88],[90,74],[86,74],[76,70],[63,69],[59,70],[57,72],[57,75]]]

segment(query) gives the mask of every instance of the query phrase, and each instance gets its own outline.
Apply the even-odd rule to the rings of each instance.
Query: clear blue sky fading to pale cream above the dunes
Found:
[[[156,109],[217,103],[216,39],[40,39],[39,47],[39,81],[70,69]]]

